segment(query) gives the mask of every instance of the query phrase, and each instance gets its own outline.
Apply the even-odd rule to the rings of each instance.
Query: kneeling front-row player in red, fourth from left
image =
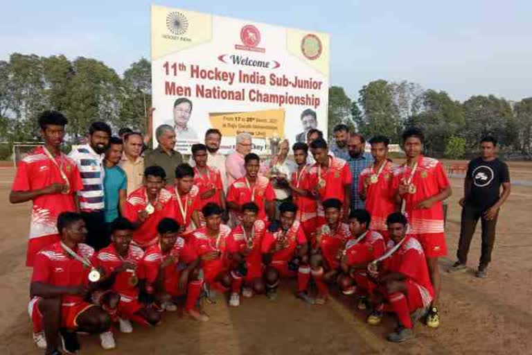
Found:
[[[231,295],[239,294],[242,286],[242,275],[231,272],[227,255],[227,241],[231,228],[222,224],[222,209],[213,202],[209,202],[202,209],[205,225],[195,230],[190,236],[193,251],[199,258],[206,283],[208,297],[211,290],[225,291],[231,288]],[[231,306],[238,306],[236,297],[229,300]]]

